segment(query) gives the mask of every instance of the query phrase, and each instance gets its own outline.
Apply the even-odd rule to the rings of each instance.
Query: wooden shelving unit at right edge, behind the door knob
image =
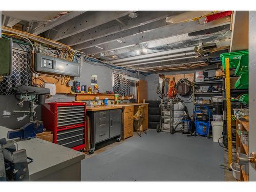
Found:
[[[249,153],[249,146],[244,144],[241,140],[241,135],[238,131],[238,125],[241,126],[241,132],[247,131],[249,132],[249,122],[248,121],[240,121],[239,119],[236,119],[236,152],[237,153],[243,153],[248,155]],[[240,133],[241,133],[240,132]],[[248,181],[248,165],[240,165],[240,181]]]

